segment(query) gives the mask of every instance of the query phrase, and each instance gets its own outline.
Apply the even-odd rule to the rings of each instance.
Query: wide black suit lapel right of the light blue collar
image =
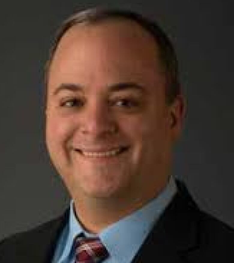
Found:
[[[186,262],[188,254],[199,248],[199,210],[185,186],[178,192],[143,243],[133,263]]]

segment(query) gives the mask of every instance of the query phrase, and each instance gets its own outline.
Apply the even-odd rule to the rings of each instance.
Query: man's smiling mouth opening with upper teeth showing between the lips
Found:
[[[123,147],[119,147],[119,148],[115,148],[112,150],[108,150],[108,151],[99,151],[99,152],[95,152],[95,151],[85,151],[85,150],[81,150],[81,149],[75,149],[75,151],[79,154],[81,154],[82,156],[86,156],[86,157],[95,157],[95,158],[100,158],[100,157],[112,157],[112,156],[117,156],[121,153],[126,152],[129,149],[128,146],[123,146]]]

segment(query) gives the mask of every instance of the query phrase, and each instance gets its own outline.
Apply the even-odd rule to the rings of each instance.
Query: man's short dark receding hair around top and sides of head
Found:
[[[87,23],[97,24],[107,20],[130,20],[138,23],[143,29],[149,32],[155,39],[155,43],[159,50],[159,56],[161,63],[164,66],[164,72],[166,74],[167,87],[166,87],[166,99],[167,103],[172,103],[176,96],[180,93],[180,84],[178,76],[178,61],[173,45],[164,31],[158,26],[155,21],[149,20],[142,15],[128,10],[120,9],[104,9],[104,8],[91,8],[85,11],[79,11],[67,20],[65,20],[61,27],[58,29],[55,35],[54,42],[49,52],[49,59],[45,66],[45,96],[47,93],[49,68],[52,63],[55,51],[58,47],[59,41],[62,36],[72,26]],[[45,100],[46,101],[46,100]]]

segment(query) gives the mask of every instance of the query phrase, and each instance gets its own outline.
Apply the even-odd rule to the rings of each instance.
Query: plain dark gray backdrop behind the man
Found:
[[[61,21],[96,4],[140,11],[170,36],[188,99],[173,173],[202,209],[234,227],[233,1],[7,1],[0,9],[0,239],[69,202],[44,146],[43,65]]]

